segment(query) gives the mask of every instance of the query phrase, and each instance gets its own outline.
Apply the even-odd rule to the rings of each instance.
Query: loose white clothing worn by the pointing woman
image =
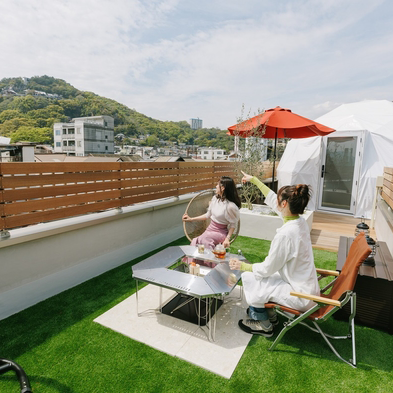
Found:
[[[265,202],[276,209],[277,195],[270,191]],[[306,220],[299,217],[278,228],[268,256],[254,263],[252,272],[243,273],[242,281],[251,306],[264,307],[270,301],[300,310],[312,307],[312,301],[290,295],[291,291],[320,294]]]

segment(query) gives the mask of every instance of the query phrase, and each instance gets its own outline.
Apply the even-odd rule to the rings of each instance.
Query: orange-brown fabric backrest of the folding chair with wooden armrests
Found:
[[[356,236],[351,247],[349,248],[347,259],[345,260],[340,275],[334,282],[330,293],[325,297],[334,300],[340,300],[345,292],[352,291],[355,287],[359,267],[370,255],[370,253],[371,248],[367,244],[366,237],[364,233],[360,233],[358,236]],[[316,313],[312,314],[312,316],[315,317],[315,314],[318,314],[318,317],[320,318],[322,315],[329,312],[333,307],[334,306],[322,307]]]

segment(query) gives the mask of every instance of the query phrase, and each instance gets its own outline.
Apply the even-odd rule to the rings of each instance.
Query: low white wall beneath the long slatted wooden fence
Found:
[[[184,236],[192,196],[11,230],[0,241],[0,320]]]

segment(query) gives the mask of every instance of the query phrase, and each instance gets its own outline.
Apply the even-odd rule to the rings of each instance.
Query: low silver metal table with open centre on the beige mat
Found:
[[[183,262],[184,257],[212,262],[215,264],[215,267],[212,268],[212,270],[210,270],[210,272],[205,276],[188,274],[186,272],[188,264]],[[197,247],[194,246],[173,246],[137,263],[132,267],[132,271],[133,278],[136,281],[136,303],[138,316],[140,316],[138,281],[160,287],[160,311],[163,307],[162,288],[171,289],[176,291],[178,294],[180,293],[190,296],[190,299],[187,299],[187,301],[179,307],[182,307],[193,300],[198,302],[198,326],[202,329],[200,320],[201,318],[206,318],[208,339],[210,341],[214,341],[216,331],[215,315],[217,312],[217,300],[214,301],[213,298],[224,298],[226,295],[229,295],[241,277],[241,272],[239,270],[230,270],[229,260],[231,258],[239,258],[245,261],[245,258],[242,255],[227,253],[225,259],[218,259],[209,250],[206,250],[204,254],[199,254]],[[236,277],[233,281],[230,280],[231,274],[234,274]],[[201,315],[202,299],[205,299],[206,301],[206,314],[203,316]],[[211,315],[213,303],[215,304],[215,310],[213,315]]]

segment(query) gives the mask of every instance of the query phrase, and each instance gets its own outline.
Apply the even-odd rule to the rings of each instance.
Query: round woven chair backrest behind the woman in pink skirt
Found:
[[[195,195],[186,208],[185,213],[190,217],[197,217],[207,212],[209,202],[214,195],[213,190],[202,191]],[[210,220],[205,221],[183,221],[184,233],[188,240],[191,242],[192,239],[202,235],[206,228],[209,226]],[[239,234],[240,231],[240,220],[237,222],[236,228],[231,236],[230,242],[232,243]]]

